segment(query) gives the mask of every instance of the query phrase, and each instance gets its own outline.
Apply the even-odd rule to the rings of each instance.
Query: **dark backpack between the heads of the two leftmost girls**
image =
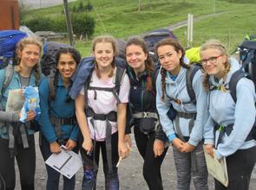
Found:
[[[68,44],[60,43],[56,41],[45,41],[43,43],[43,56],[40,60],[42,73],[45,76],[50,74],[50,71],[56,69],[56,52],[60,48],[72,48]]]

